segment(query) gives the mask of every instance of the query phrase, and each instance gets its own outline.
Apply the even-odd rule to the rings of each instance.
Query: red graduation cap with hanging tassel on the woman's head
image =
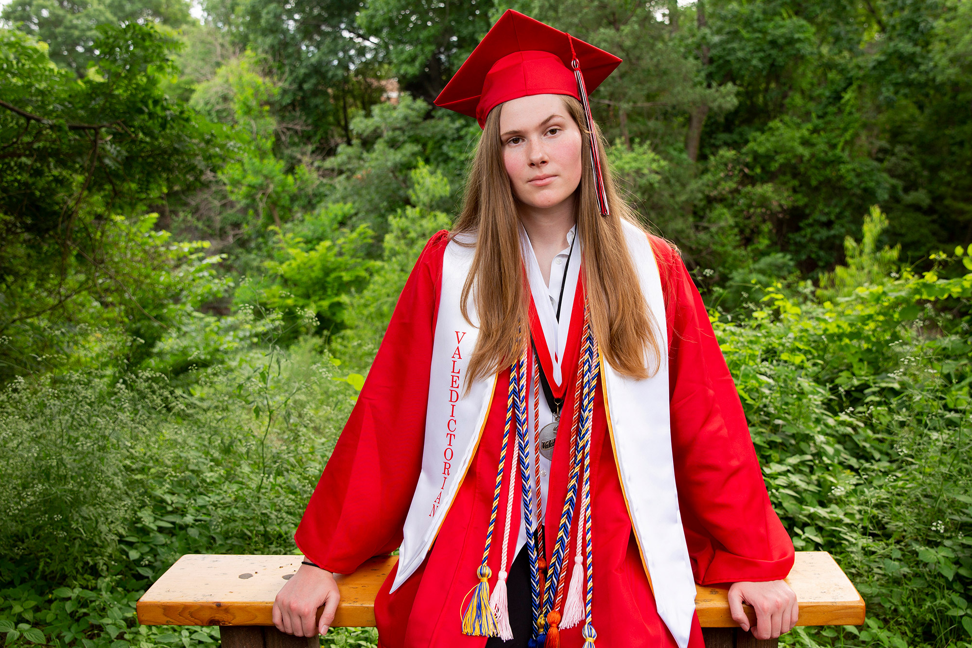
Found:
[[[584,106],[591,131],[591,164],[601,213],[608,214],[594,121],[587,100],[621,59],[570,34],[506,10],[455,76],[435,98],[435,105],[476,118],[479,126],[504,101],[532,94],[569,94]]]

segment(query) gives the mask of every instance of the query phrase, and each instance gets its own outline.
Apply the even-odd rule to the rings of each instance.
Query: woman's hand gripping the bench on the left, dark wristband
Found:
[[[326,634],[340,600],[341,594],[330,571],[302,564],[273,600],[273,625],[296,636]],[[322,605],[321,621],[315,623],[317,608]]]

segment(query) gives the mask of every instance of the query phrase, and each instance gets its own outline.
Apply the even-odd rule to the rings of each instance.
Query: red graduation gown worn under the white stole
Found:
[[[402,290],[358,402],[311,496],[295,535],[305,556],[336,573],[399,546],[421,471],[435,316],[448,238],[435,234]],[[715,341],[702,298],[664,240],[652,237],[661,273],[669,341],[672,445],[678,503],[695,579],[703,585],[785,577],[793,545],[770,504],[736,387]],[[581,291],[577,291],[578,295]],[[579,343],[579,298],[569,344]],[[573,384],[577,350],[565,351]],[[567,361],[573,359],[571,365]],[[568,369],[573,366],[573,369]],[[385,648],[482,647],[485,637],[461,632],[464,598],[477,583],[496,484],[508,374],[497,395],[469,472],[442,522],[432,550],[390,594],[394,572],[375,600]],[[564,412],[573,412],[568,389]],[[541,401],[542,402],[542,401]],[[545,522],[552,552],[568,479],[568,444],[555,447]],[[512,459],[512,452],[509,453]],[[618,479],[599,384],[591,449],[594,627],[603,646],[677,646],[659,618]],[[506,468],[506,475],[509,466]],[[514,487],[519,487],[518,484]],[[501,493],[506,501],[506,487]],[[518,502],[518,498],[517,498]],[[518,511],[519,503],[514,507]],[[503,509],[503,507],[501,507]],[[500,569],[503,513],[490,566]],[[516,513],[511,547],[519,525]],[[570,556],[573,563],[573,549]],[[512,556],[508,558],[512,561]],[[568,571],[563,578],[570,578]],[[567,582],[565,582],[565,588]],[[665,595],[664,593],[658,593]],[[562,630],[561,645],[583,643],[580,627]],[[703,648],[698,620],[689,645]]]

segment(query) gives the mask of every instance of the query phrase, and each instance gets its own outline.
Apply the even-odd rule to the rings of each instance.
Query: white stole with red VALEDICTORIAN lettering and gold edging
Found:
[[[615,372],[602,356],[608,433],[658,615],[678,646],[685,648],[695,612],[695,581],[678,513],[665,300],[647,235],[635,225],[623,224],[661,357],[654,376],[633,380]],[[443,257],[422,475],[405,520],[392,592],[415,572],[432,547],[478,447],[496,386],[495,375],[476,380],[464,395],[465,372],[478,330],[463,317],[460,300],[474,254],[474,248],[450,241]],[[472,303],[469,317],[478,322]]]

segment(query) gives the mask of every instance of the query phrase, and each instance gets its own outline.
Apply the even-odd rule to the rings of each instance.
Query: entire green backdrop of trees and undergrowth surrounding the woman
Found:
[[[592,100],[625,196],[712,307],[798,549],[868,599],[785,642],[972,645],[967,0],[8,4],[8,643],[213,643],[134,600],[183,553],[295,551],[462,198],[480,131],[432,100],[507,5],[624,59]]]

